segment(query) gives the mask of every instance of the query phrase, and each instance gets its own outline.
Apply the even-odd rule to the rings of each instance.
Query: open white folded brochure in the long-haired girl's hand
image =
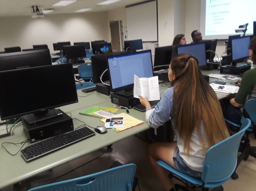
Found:
[[[139,95],[148,101],[160,100],[158,76],[139,78],[134,74],[133,97],[140,98]]]

